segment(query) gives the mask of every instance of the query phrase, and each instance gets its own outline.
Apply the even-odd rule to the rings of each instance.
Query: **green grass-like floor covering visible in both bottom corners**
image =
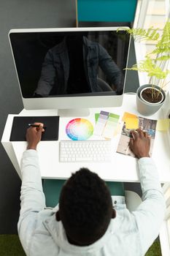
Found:
[[[26,256],[17,235],[0,235],[0,256]],[[161,256],[159,241],[155,241],[145,256]]]

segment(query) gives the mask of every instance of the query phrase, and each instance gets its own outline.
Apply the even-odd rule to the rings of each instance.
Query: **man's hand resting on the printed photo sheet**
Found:
[[[131,132],[132,137],[129,143],[131,151],[134,152],[136,157],[150,157],[150,137],[147,132],[143,132],[142,129],[136,129]]]

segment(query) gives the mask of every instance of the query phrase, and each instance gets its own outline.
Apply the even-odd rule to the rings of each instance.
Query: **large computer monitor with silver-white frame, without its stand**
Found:
[[[125,29],[12,29],[9,42],[26,110],[122,105]]]

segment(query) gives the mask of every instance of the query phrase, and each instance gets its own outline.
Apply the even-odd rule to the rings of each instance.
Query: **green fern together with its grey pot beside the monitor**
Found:
[[[146,72],[150,78],[149,84],[140,86],[136,91],[136,103],[139,113],[150,116],[155,113],[166,99],[164,91],[169,83],[170,74],[170,21],[163,27],[162,34],[159,29],[127,29],[135,40],[155,41],[155,49],[144,56],[144,60],[127,68],[139,72]]]

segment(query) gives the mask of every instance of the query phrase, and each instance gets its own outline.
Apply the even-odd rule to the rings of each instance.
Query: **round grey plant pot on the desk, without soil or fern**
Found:
[[[152,86],[150,84],[146,84],[144,86],[140,86],[137,91],[136,91],[136,106],[137,106],[137,110],[139,113],[141,113],[143,116],[151,116],[154,113],[156,113],[161,106],[163,105],[165,99],[166,99],[166,94],[165,92],[159,87],[159,86],[155,86],[155,89],[161,90],[161,93],[163,94],[163,100],[161,100],[161,102],[157,102],[155,103],[150,103],[147,102],[146,100],[141,98],[141,91],[146,89],[146,88],[152,88]]]

